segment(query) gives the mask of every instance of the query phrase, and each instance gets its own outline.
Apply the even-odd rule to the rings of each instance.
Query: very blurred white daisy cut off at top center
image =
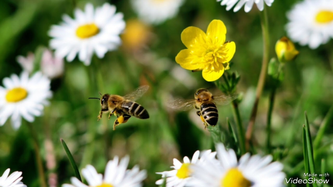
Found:
[[[148,24],[160,24],[174,17],[184,0],[131,0],[134,11]]]

